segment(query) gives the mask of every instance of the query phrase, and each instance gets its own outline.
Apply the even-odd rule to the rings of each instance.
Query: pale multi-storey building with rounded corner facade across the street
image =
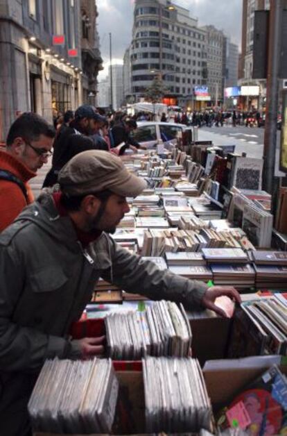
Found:
[[[136,0],[130,47],[136,100],[156,76],[168,89],[169,104],[188,99],[193,87],[206,85],[206,35],[189,10],[167,0]]]

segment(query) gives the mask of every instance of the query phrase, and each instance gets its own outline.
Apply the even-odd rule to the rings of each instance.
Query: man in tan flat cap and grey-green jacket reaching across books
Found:
[[[3,435],[26,435],[26,405],[44,360],[103,353],[103,338],[71,340],[99,277],[153,300],[216,310],[231,287],[161,271],[110,237],[129,211],[126,196],[146,183],[106,151],[85,151],[60,171],[61,191],[42,194],[0,235],[0,422]],[[17,415],[17,419],[15,416]],[[28,433],[27,433],[28,434]]]

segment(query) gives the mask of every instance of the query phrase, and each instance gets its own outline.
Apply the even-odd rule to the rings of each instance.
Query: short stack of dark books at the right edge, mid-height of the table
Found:
[[[256,271],[256,287],[287,289],[287,253],[284,251],[252,251]]]

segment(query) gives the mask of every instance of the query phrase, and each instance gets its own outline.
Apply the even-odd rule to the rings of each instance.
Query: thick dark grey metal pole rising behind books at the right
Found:
[[[281,0],[270,0],[268,73],[266,91],[266,121],[263,151],[263,190],[274,192],[275,155],[277,140],[278,77],[281,51],[283,5]]]

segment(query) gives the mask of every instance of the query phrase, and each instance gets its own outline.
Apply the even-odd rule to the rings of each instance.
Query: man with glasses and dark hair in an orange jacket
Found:
[[[44,118],[24,112],[8,132],[0,150],[0,232],[9,226],[34,197],[28,181],[48,162],[55,129]]]

